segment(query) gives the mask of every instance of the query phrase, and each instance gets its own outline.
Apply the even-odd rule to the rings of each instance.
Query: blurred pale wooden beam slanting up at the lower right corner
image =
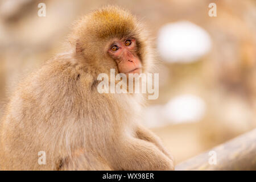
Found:
[[[216,164],[209,164],[210,151],[215,151]],[[178,164],[175,170],[256,170],[256,129]]]

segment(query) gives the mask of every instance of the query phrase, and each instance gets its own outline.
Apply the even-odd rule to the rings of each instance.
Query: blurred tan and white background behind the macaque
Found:
[[[159,98],[144,125],[176,163],[256,127],[254,0],[0,0],[0,117],[20,78],[64,51],[72,22],[108,4],[131,10],[155,38]]]

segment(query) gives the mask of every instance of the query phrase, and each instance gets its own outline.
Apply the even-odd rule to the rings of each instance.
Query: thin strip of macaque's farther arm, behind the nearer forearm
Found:
[[[154,133],[152,133],[152,131],[140,125],[137,127],[136,134],[139,139],[154,143],[156,147],[159,148],[160,151],[162,151],[165,155],[168,156],[168,158],[170,158],[171,160],[174,160],[174,158],[170,155],[170,153],[166,150],[166,148],[164,148],[160,138],[157,137]]]

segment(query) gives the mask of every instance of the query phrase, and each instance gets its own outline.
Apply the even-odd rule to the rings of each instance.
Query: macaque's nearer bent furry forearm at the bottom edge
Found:
[[[114,170],[174,170],[173,161],[151,142],[127,138],[115,150]]]

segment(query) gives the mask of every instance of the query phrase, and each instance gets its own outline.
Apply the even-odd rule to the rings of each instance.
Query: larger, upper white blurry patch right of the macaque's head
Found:
[[[191,22],[168,23],[160,28],[158,51],[170,63],[190,63],[209,52],[210,36],[203,28]]]

